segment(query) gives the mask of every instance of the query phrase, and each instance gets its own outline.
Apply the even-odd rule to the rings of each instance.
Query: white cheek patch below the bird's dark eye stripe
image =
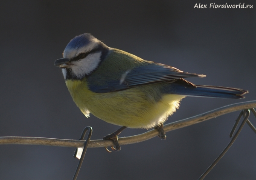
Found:
[[[84,59],[74,61],[73,65],[71,65],[70,67],[72,69],[73,74],[75,74],[76,77],[79,78],[82,78],[85,75],[90,74],[94,69],[98,67],[101,54],[101,52],[89,54]]]

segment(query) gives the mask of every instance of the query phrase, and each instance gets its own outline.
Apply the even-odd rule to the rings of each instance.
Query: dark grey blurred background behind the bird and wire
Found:
[[[195,3],[207,9],[194,9]],[[209,4],[253,9],[209,9]],[[232,103],[256,100],[254,0],[23,0],[0,5],[0,136],[92,139],[118,129],[76,107],[61,69],[53,65],[67,43],[90,32],[108,46],[186,72],[207,74],[192,83],[249,90],[243,100],[187,97],[166,123]],[[230,141],[239,112],[168,132],[166,140],[88,149],[78,180],[196,180]],[[256,124],[253,116],[250,120]],[[120,137],[140,134],[126,129]],[[71,180],[74,148],[0,146],[1,180]],[[236,142],[205,178],[256,178],[256,134],[245,125]]]

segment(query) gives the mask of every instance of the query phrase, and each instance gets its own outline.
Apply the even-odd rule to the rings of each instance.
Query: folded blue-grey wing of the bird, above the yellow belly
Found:
[[[186,77],[205,77],[205,75],[186,73],[163,64],[148,63],[145,66],[138,66],[134,69],[119,73],[118,79],[108,79],[104,80],[104,82],[100,82],[102,81],[100,78],[88,77],[87,80],[89,81],[91,91],[106,93],[148,84],[172,83],[177,79]]]

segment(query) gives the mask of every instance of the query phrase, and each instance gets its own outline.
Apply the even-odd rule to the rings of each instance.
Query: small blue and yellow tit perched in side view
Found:
[[[163,123],[187,96],[241,99],[248,91],[221,86],[195,85],[184,78],[205,77],[175,67],[143,60],[108,47],[90,33],[74,37],[63,58],[55,60],[73,101],[81,112],[122,126],[103,137],[119,151],[118,135],[127,127],[157,129],[166,139]],[[107,150],[107,147],[105,147]]]

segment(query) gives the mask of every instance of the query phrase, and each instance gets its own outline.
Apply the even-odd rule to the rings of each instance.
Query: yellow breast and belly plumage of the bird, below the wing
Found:
[[[153,96],[157,92],[151,91],[153,85],[108,93],[90,91],[86,80],[67,80],[66,85],[85,116],[89,117],[91,112],[108,123],[129,128],[149,129],[163,123],[176,111],[180,100],[185,97],[164,94],[156,101]]]

